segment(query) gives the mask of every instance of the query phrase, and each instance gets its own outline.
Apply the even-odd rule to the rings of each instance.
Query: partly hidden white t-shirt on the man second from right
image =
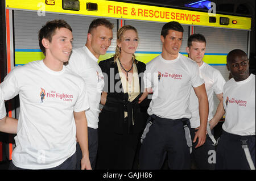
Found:
[[[208,102],[209,102],[209,115],[208,121],[210,121],[213,116],[214,102],[213,102],[213,92],[215,94],[221,94],[223,92],[223,86],[225,84],[225,79],[222,77],[220,71],[214,69],[212,66],[203,62],[203,65],[199,67],[200,77],[204,79],[205,89],[207,91]],[[199,116],[199,103],[198,98],[191,87],[189,110],[192,113],[190,119],[191,128],[197,128],[200,126],[200,116]]]

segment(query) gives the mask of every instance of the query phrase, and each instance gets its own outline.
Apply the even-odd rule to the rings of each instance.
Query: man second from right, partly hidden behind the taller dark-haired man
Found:
[[[213,128],[224,115],[222,95],[223,86],[225,79],[222,77],[220,71],[214,69],[203,61],[204,53],[206,49],[205,37],[201,34],[193,34],[188,37],[187,53],[189,58],[197,63],[200,69],[200,77],[204,79],[205,89],[207,91],[207,97],[209,102],[209,114],[207,122],[207,138],[205,144],[195,149],[196,142],[193,143],[193,150],[191,154],[192,162],[197,169],[213,170],[215,168],[215,161],[209,159],[212,151],[215,151],[216,140],[213,136]],[[213,103],[213,92],[215,92],[220,103],[218,104],[216,113],[213,114],[214,103]],[[192,113],[190,119],[191,124],[191,137],[195,137],[195,133],[200,128],[200,116],[199,116],[199,105],[195,92],[191,91],[189,110]],[[215,154],[214,154],[215,155]]]

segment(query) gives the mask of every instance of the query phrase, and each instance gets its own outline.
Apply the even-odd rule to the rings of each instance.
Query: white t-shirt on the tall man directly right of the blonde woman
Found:
[[[189,96],[191,86],[204,83],[199,67],[190,58],[178,54],[175,60],[164,60],[160,54],[147,63],[144,72],[145,87],[152,87],[153,95],[148,114],[167,119],[191,118]]]

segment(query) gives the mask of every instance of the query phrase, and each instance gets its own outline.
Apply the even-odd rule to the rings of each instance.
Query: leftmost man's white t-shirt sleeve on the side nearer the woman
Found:
[[[82,81],[79,96],[74,106],[74,111],[81,112],[81,111],[86,111],[89,108],[90,106],[89,106],[88,94],[86,92],[86,86],[84,81]]]

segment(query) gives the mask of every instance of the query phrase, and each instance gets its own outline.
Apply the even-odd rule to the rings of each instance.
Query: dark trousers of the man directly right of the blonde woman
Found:
[[[187,124],[190,128],[188,119]],[[139,169],[161,169],[166,154],[170,169],[190,169],[190,153],[183,122],[156,117],[141,146]]]

